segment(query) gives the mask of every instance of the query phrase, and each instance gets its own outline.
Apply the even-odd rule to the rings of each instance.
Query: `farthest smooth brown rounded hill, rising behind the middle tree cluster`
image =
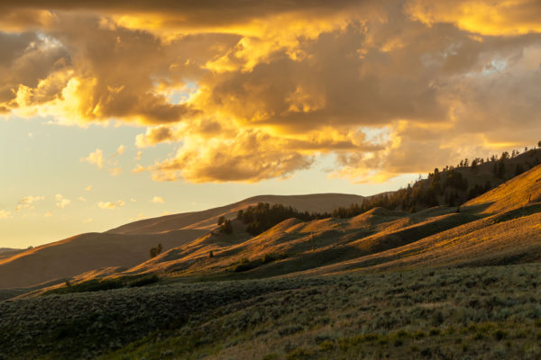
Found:
[[[225,215],[234,218],[236,212],[258,202],[281,203],[298,211],[326,212],[352,203],[362,203],[364,197],[346,193],[315,193],[308,195],[261,195],[205,211],[179,213],[159,218],[139,220],[107,231],[115,234],[155,234],[173,229],[213,229],[216,220]]]

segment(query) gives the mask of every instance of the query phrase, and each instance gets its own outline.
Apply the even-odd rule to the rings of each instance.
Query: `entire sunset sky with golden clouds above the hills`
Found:
[[[396,190],[541,139],[538,0],[0,3],[0,247]]]

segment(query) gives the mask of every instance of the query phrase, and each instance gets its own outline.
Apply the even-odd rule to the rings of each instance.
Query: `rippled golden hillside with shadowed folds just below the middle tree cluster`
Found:
[[[287,275],[400,247],[475,219],[449,208],[416,215],[377,208],[353,219],[289,219],[253,238],[235,220],[232,235],[207,234],[127,273]],[[238,274],[235,267],[239,264],[253,268]]]

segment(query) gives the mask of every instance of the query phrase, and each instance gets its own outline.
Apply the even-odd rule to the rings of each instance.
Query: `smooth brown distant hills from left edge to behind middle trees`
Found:
[[[102,267],[137,266],[150,257],[151,247],[161,244],[167,251],[187,244],[214,229],[218,217],[233,218],[238,210],[261,201],[331,211],[362,200],[362,196],[341,193],[256,196],[215,209],[140,220],[105,233],[81,234],[18,252],[5,250],[0,253],[0,289],[62,281]]]

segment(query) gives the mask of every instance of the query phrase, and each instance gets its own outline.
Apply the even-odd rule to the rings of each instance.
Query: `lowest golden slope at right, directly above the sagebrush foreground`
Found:
[[[437,232],[401,247],[375,252],[305,274],[434,266],[497,266],[541,260],[541,204]]]

